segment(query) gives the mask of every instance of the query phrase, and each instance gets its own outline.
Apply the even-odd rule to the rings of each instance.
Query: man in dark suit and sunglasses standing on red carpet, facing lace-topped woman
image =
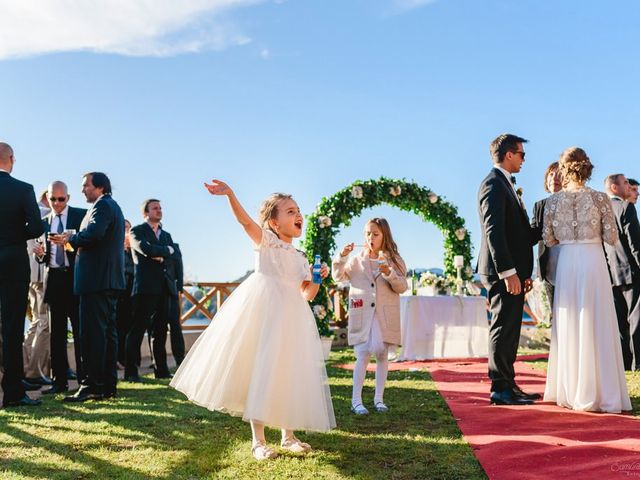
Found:
[[[512,174],[524,163],[525,139],[503,134],[491,142],[494,168],[480,184],[478,211],[482,243],[477,272],[487,289],[489,378],[491,402],[526,405],[540,398],[524,393],[516,384],[513,364],[518,351],[524,294],[531,289],[533,232]]]

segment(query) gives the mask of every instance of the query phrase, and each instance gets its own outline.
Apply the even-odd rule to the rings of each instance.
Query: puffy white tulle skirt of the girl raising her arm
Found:
[[[313,313],[296,286],[261,273],[222,305],[171,386],[246,421],[321,432],[336,425]]]

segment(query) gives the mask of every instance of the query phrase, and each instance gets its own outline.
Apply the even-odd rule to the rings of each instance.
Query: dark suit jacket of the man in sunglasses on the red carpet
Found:
[[[529,218],[509,180],[496,168],[480,184],[478,213],[482,241],[476,271],[494,280],[515,268],[521,280],[529,278],[535,243]]]

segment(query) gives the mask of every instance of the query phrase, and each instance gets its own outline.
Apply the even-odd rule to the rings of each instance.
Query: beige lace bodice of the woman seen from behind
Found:
[[[542,239],[548,247],[596,241],[613,245],[618,229],[611,200],[588,187],[554,193],[545,205]]]

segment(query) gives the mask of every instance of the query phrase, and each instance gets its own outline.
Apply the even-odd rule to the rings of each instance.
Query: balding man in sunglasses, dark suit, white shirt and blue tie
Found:
[[[45,232],[60,234],[65,231],[78,232],[87,213],[84,208],[69,206],[69,191],[64,182],[56,181],[48,188],[51,212],[43,218]],[[69,388],[67,373],[67,322],[71,322],[76,374],[82,380],[82,341],[80,339],[80,313],[78,296],[73,294],[73,277],[76,252],[47,241],[39,260],[45,265],[44,301],[49,305],[51,333],[51,369],[53,385],[42,393],[66,392]]]

